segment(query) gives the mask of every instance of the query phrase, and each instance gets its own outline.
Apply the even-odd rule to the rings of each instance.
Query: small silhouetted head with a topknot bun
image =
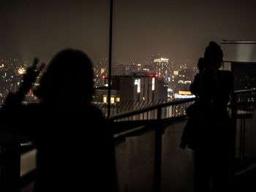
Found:
[[[221,47],[216,42],[210,42],[204,53],[206,68],[215,67],[219,69],[222,64],[223,53]]]

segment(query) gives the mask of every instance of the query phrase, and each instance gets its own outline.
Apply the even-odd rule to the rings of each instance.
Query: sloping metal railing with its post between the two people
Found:
[[[152,128],[154,129],[154,191],[156,192],[161,191],[163,120],[170,121],[170,119],[186,117],[186,108],[194,101],[195,99],[172,101],[116,115],[115,117],[110,118],[111,121],[116,123],[127,123],[127,121],[140,121],[140,123],[142,123],[140,127],[138,127],[138,123],[134,124],[135,128],[131,128],[131,126],[129,126],[128,130],[122,130],[123,132],[121,134],[120,130],[117,130],[116,132],[119,134],[114,135],[115,139],[122,139],[124,137],[128,137],[130,134],[143,134],[145,131]],[[148,121],[150,126],[147,125]]]

